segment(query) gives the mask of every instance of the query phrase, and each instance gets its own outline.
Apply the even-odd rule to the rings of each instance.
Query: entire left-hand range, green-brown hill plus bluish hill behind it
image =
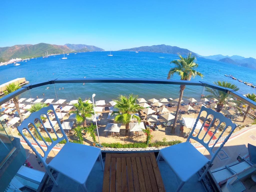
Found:
[[[47,43],[39,43],[35,45],[25,44],[25,45],[14,45],[11,47],[0,47],[0,62],[8,61],[12,58],[32,58],[41,57],[48,52],[51,54],[62,54],[70,52],[89,52],[89,51],[104,51],[99,47],[92,45],[82,45],[82,44],[66,44],[66,45],[52,45]]]

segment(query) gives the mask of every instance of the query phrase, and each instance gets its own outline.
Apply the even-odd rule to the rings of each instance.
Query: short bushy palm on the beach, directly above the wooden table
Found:
[[[142,106],[136,104],[137,98],[138,95],[130,94],[129,97],[120,95],[118,100],[113,100],[116,102],[115,108],[118,109],[118,111],[113,111],[111,116],[117,114],[115,116],[115,122],[125,124],[125,136],[128,135],[128,129],[130,127],[129,123],[132,118],[136,119],[139,123],[141,121],[138,116],[132,116],[133,113],[137,113],[140,109],[144,109]]]

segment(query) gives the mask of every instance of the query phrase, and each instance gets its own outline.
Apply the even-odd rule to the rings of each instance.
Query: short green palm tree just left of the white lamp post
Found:
[[[71,111],[71,113],[76,114],[77,123],[83,123],[83,127],[86,127],[86,118],[90,118],[94,114],[93,106],[91,103],[83,102],[82,99],[78,98],[78,103],[74,104],[76,111]]]

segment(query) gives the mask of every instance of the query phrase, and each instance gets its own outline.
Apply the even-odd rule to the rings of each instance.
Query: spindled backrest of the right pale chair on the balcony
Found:
[[[195,128],[196,128],[196,125],[197,125],[197,122],[199,121],[199,118],[200,118],[200,114],[202,112],[206,112],[206,117],[205,117],[205,120],[204,122],[202,123],[202,126],[198,132],[198,134],[196,136],[193,136],[193,132],[195,131]],[[204,124],[206,122],[206,120],[208,119],[208,116],[209,115],[212,115],[212,121],[210,123],[210,126],[207,128],[207,131],[205,132],[205,135],[200,139],[198,136],[200,134],[200,132],[202,131],[202,129],[204,129]],[[218,125],[215,129],[215,131],[212,133],[210,139],[208,142],[205,142],[204,139],[205,139],[205,136],[207,135],[208,131],[210,130],[211,126],[212,126],[212,123],[215,122],[216,119],[219,119],[219,122],[218,122]],[[219,126],[221,123],[225,123],[225,127],[223,129],[223,131],[220,133],[219,137],[216,139],[216,141],[212,142],[213,145],[209,146],[212,138],[214,137],[216,131],[218,130]],[[218,141],[220,140],[220,138],[222,137],[223,133],[226,131],[226,129],[228,127],[231,127],[231,131],[229,132],[229,134],[226,136],[226,138],[223,140],[223,142],[221,143],[221,145],[219,146],[219,148],[217,148],[217,150],[213,153],[213,148],[214,146],[218,143]],[[212,109],[210,108],[206,108],[205,106],[202,106],[201,107],[201,110],[197,116],[197,119],[195,121],[195,124],[194,124],[194,127],[192,128],[188,138],[187,138],[187,142],[189,142],[189,139],[194,139],[195,141],[199,142],[202,146],[204,146],[207,151],[210,153],[211,155],[211,159],[210,159],[210,163],[214,160],[215,156],[218,154],[218,152],[220,151],[220,149],[223,147],[223,145],[228,141],[230,135],[233,133],[233,131],[236,129],[236,124],[232,123],[232,121],[228,118],[226,118],[224,115],[222,115],[221,113],[219,112],[216,112],[216,111],[213,111]],[[211,143],[211,144],[212,144]]]

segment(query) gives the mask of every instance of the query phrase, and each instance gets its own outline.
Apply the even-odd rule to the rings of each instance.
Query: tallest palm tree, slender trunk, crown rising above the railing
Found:
[[[195,63],[196,57],[195,56],[191,57],[191,52],[188,54],[186,58],[182,57],[179,54],[178,56],[180,59],[173,60],[170,62],[170,64],[174,63],[175,67],[170,69],[167,79],[170,79],[174,74],[178,74],[180,76],[180,80],[188,80],[188,81],[191,80],[191,77],[195,78],[197,75],[200,76],[201,78],[203,77],[203,75],[200,72],[195,70],[198,67],[198,64]],[[175,127],[178,120],[180,103],[183,97],[183,91],[185,87],[186,87],[185,85],[180,85],[179,101],[178,101],[176,115],[173,122],[171,133],[175,133]]]

